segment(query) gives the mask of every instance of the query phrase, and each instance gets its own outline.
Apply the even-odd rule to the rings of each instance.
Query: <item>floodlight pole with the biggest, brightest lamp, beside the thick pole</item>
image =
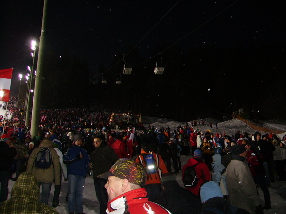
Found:
[[[26,103],[25,103],[25,109],[26,109],[26,118],[25,118],[25,126],[27,127],[29,125],[29,119],[30,119],[30,100],[31,100],[31,88],[32,88],[32,81],[33,81],[33,70],[34,70],[34,62],[35,62],[35,53],[36,53],[36,42],[32,40],[31,42],[31,49],[34,51],[31,53],[33,57],[33,64],[32,64],[32,69],[30,69],[30,78],[28,81],[28,86],[27,86],[27,96],[26,96]],[[30,68],[30,67],[29,67]],[[35,74],[36,75],[36,74]]]

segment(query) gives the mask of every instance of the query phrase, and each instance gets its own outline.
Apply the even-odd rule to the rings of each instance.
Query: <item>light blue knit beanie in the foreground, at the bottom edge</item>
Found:
[[[221,189],[217,183],[209,181],[200,187],[200,200],[202,203],[214,197],[223,197]]]

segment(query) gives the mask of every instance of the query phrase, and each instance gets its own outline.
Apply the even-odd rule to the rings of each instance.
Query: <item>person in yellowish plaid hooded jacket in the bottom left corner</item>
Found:
[[[1,214],[59,214],[56,209],[39,202],[40,190],[36,175],[23,172],[15,182],[11,198],[0,203]]]

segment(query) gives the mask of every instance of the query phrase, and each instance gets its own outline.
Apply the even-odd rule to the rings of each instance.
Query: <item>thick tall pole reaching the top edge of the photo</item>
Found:
[[[41,90],[42,90],[42,70],[44,68],[44,45],[45,45],[45,25],[47,16],[47,3],[48,0],[44,0],[43,18],[42,18],[42,29],[38,52],[38,63],[36,69],[36,79],[34,88],[34,99],[32,108],[32,118],[31,118],[31,136],[38,136],[38,127],[40,120],[40,104],[41,104]]]

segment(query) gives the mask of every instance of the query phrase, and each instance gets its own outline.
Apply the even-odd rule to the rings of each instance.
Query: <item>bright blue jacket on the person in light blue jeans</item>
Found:
[[[81,159],[80,154],[83,155]],[[86,177],[89,170],[89,155],[86,150],[74,145],[64,154],[63,161],[68,168],[67,176],[71,174]]]

